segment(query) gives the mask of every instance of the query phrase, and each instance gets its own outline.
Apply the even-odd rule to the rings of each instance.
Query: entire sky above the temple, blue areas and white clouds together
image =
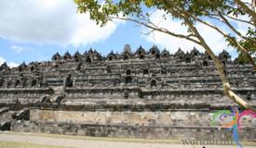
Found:
[[[151,19],[171,31],[186,32],[180,21],[163,21],[162,14],[156,11]],[[148,50],[154,44],[170,53],[179,47],[190,51],[194,46],[203,51],[198,45],[163,33],[144,35],[141,32],[148,30],[132,22],[116,20],[101,28],[87,14],[77,14],[73,0],[0,0],[0,21],[0,64],[7,61],[11,67],[23,61],[50,60],[56,52],[84,53],[90,47],[104,56],[111,50],[121,53],[127,43],[133,51],[140,45]],[[216,54],[226,49],[220,34],[200,24],[197,27]],[[239,24],[237,28],[245,30]],[[234,49],[227,50],[236,56]]]

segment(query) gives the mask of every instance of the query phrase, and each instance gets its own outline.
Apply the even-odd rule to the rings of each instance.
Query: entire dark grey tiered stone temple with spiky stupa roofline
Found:
[[[226,51],[219,58],[233,90],[256,105],[255,71]],[[0,129],[222,140],[232,132],[212,125],[212,115],[234,105],[222,93],[213,61],[196,49],[171,55],[156,46],[131,52],[127,44],[121,54],[90,49],[0,67]],[[242,126],[240,139],[256,140],[256,118],[244,117]]]

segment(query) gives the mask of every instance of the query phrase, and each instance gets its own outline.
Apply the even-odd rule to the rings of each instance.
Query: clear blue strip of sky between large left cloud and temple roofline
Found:
[[[149,49],[154,43],[150,43],[141,37],[140,30],[141,28],[134,25],[134,23],[122,23],[108,38],[78,46],[73,44],[63,46],[57,43],[16,42],[0,38],[0,57],[6,59],[8,63],[20,64],[23,61],[29,63],[31,61],[50,60],[56,52],[61,55],[64,55],[67,51],[73,55],[77,50],[84,53],[89,48],[96,49],[103,56],[106,56],[111,50],[121,53],[125,44],[130,44],[133,51],[140,45]]]

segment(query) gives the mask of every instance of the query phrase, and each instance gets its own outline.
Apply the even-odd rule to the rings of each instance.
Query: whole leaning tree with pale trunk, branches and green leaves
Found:
[[[89,13],[90,19],[104,26],[113,19],[133,21],[152,31],[161,31],[171,36],[189,40],[201,45],[213,59],[223,83],[223,92],[238,105],[252,108],[242,98],[233,93],[228,79],[223,72],[220,59],[197,30],[195,24],[202,23],[218,31],[229,45],[236,48],[239,60],[249,62],[256,69],[254,55],[256,52],[256,13],[251,4],[241,0],[74,0],[80,13]],[[255,3],[255,0],[253,0]],[[155,10],[165,12],[164,19],[180,19],[187,27],[188,34],[172,32],[168,28],[161,28],[150,16]],[[218,23],[210,23],[209,19]],[[246,34],[238,31],[234,22],[249,26]],[[232,32],[222,29],[224,25]]]

